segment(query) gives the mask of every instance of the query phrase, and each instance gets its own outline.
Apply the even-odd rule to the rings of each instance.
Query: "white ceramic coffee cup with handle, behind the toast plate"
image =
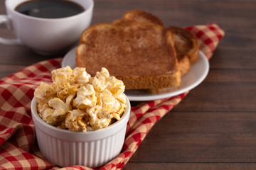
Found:
[[[85,11],[65,18],[36,18],[14,9],[28,0],[6,0],[7,15],[0,15],[0,23],[14,30],[16,39],[0,38],[5,45],[26,45],[32,50],[52,55],[63,52],[79,41],[83,30],[92,20],[93,0],[69,0],[80,4]]]

